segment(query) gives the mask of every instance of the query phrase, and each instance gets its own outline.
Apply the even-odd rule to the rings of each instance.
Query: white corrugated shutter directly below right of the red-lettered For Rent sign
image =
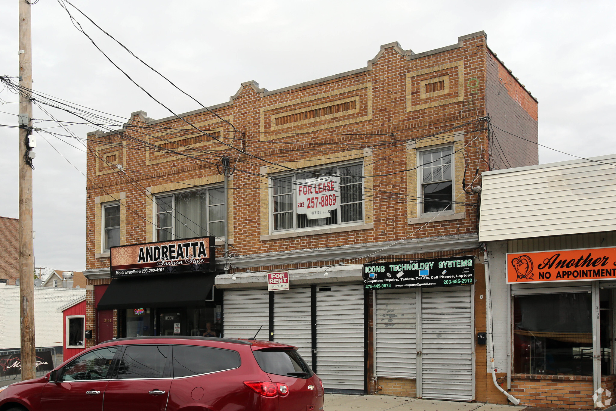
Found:
[[[274,341],[291,344],[311,365],[312,324],[310,288],[274,293]]]

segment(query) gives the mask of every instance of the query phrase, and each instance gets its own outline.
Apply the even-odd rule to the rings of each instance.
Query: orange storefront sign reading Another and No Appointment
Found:
[[[507,254],[507,283],[616,279],[616,248]]]

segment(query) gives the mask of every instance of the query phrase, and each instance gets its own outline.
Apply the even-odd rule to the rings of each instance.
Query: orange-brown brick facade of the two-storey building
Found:
[[[258,89],[256,84],[246,83],[242,86],[229,104],[215,109],[217,115],[232,118],[237,130],[246,133],[243,147],[250,153],[250,156],[237,157],[237,152],[232,150],[235,152],[232,155],[234,158],[232,166],[236,168],[232,190],[232,254],[248,256],[362,243],[395,242],[402,239],[476,234],[475,193],[463,193],[456,197],[456,201],[466,202],[469,205],[466,207],[464,218],[408,224],[410,217],[408,203],[410,201],[413,205],[416,204],[416,187],[407,187],[407,173],[400,171],[407,169],[408,142],[442,144],[442,135],[445,134],[451,139],[452,130],[460,133],[461,144],[465,145],[466,166],[468,173],[471,173],[466,176],[466,182],[472,180],[477,169],[479,173],[488,169],[489,142],[484,129],[485,123],[479,119],[487,113],[488,94],[499,91],[495,87],[488,87],[487,84],[488,54],[485,36],[477,33],[463,38],[458,47],[448,47],[445,51],[431,54],[403,55],[397,51],[397,47],[387,47],[367,70],[358,70],[354,74],[345,76],[331,76],[318,83],[304,83],[298,87],[289,87],[276,92],[265,92]],[[408,83],[411,84],[410,88],[407,76],[415,78]],[[416,83],[438,76],[449,76],[451,88],[448,94],[433,99],[428,96],[427,100],[423,100],[426,104],[423,104],[415,95],[421,88],[417,87]],[[532,115],[511,99],[505,86],[501,88],[501,95],[506,94],[508,100],[505,100],[507,104],[495,102],[493,105],[498,107],[500,115],[507,116],[511,112],[515,118],[522,118],[522,115],[528,117],[528,121],[507,123],[505,126],[510,127],[516,134],[523,132],[523,135],[536,136],[536,118],[533,119]],[[407,92],[411,97],[410,106],[407,102]],[[316,105],[324,107],[343,99],[357,99],[356,112],[347,110],[339,113],[340,115],[315,118],[310,120],[312,123],[306,124],[288,123],[279,129],[270,125],[272,116],[305,112],[312,110]],[[413,105],[414,102],[418,104]],[[223,139],[231,141],[233,137],[229,124],[225,124],[205,110],[185,115],[185,119],[193,124],[208,122],[206,129],[221,131]],[[187,136],[188,131],[182,131],[183,128],[185,129],[185,123],[177,119],[160,121],[149,126],[139,116],[133,116],[125,129],[108,135],[90,136],[86,186],[87,269],[104,269],[110,266],[109,258],[96,257],[100,252],[95,249],[96,235],[100,232],[100,221],[96,221],[95,218],[98,206],[95,204],[96,197],[109,193],[126,193],[126,198],[123,200],[126,206],[123,241],[126,244],[143,243],[147,241],[146,233],[153,230],[152,222],[145,221],[146,205],[152,203],[152,197],[147,195],[144,187],[156,187],[169,184],[171,181],[186,182],[219,176],[215,164],[222,155],[229,155],[229,148],[213,142],[209,137],[201,136],[211,145],[192,145],[174,149],[179,153],[188,150],[187,153],[192,156],[190,158],[148,148],[150,147],[148,144],[160,143],[161,139],[190,137]],[[309,131],[308,128],[319,129]],[[161,131],[167,134],[161,136]],[[157,137],[152,136],[157,132],[159,132]],[[236,138],[233,141],[236,143],[235,146],[239,147],[237,143],[240,139]],[[97,150],[100,155],[120,153],[118,161],[121,161],[126,169],[126,174],[111,171],[95,157],[93,153],[97,153]],[[261,174],[261,167],[269,165],[268,162],[299,162],[326,155],[339,158],[349,150],[366,150],[366,152],[371,150],[372,153],[373,170],[370,181],[373,189],[367,190],[364,201],[365,204],[372,206],[373,211],[365,216],[365,222],[373,224],[373,228],[346,232],[322,230],[321,234],[261,240],[262,211],[265,214],[269,212],[269,203],[267,201],[261,203],[259,194],[267,189],[267,186],[261,184],[258,176]],[[536,163],[536,160],[533,160],[537,158],[536,153],[536,146],[520,145],[509,150],[508,157],[516,165],[526,165],[529,161]],[[235,158],[238,158],[237,163]],[[169,161],[152,161],[153,159]],[[335,163],[336,160],[333,159],[331,162]],[[113,168],[115,169],[115,166]],[[105,173],[105,171],[110,172]],[[127,181],[126,175],[131,176],[131,181]],[[455,181],[458,184],[456,192],[462,192],[461,179],[456,178]],[[456,251],[423,253],[421,257],[415,254],[415,258],[450,256]],[[221,257],[222,247],[217,249],[217,258]],[[410,259],[411,255],[395,255],[389,258],[390,261]],[[365,259],[271,265],[251,267],[251,270],[293,269],[347,262],[361,264]],[[482,274],[478,273],[477,279],[481,278]],[[89,280],[88,287],[97,284],[98,281]],[[480,290],[484,286],[478,285],[478,287]],[[90,318],[87,327],[95,330],[93,290],[88,290],[87,301]],[[485,309],[483,311],[480,309],[480,304],[485,302],[485,299],[476,302],[479,304],[479,312],[476,314],[477,331],[485,331],[485,324],[482,325],[480,320],[483,315],[485,323]],[[498,397],[500,394],[492,394],[496,388],[491,381],[487,383],[485,354],[481,354],[481,348],[477,348],[477,364],[479,364],[476,370],[477,396],[490,399],[494,397],[494,401],[502,401],[502,398]]]

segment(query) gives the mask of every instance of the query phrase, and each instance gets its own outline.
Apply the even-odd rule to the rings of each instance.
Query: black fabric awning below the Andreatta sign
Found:
[[[216,274],[113,279],[97,308],[203,306],[214,277]]]

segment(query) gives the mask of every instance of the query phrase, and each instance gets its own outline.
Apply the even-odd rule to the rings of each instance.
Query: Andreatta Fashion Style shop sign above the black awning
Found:
[[[111,278],[214,271],[214,237],[111,247]]]

